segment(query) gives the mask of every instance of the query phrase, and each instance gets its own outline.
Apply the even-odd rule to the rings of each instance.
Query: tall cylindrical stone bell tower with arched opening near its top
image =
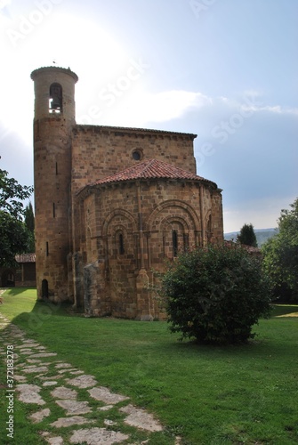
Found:
[[[46,67],[31,73],[35,86],[34,186],[36,287],[53,302],[68,295],[71,132],[76,125],[75,84],[70,69]]]

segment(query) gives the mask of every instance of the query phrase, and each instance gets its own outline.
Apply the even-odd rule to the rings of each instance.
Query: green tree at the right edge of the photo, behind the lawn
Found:
[[[274,295],[289,303],[298,301],[298,198],[290,207],[281,210],[278,234],[262,246]]]

